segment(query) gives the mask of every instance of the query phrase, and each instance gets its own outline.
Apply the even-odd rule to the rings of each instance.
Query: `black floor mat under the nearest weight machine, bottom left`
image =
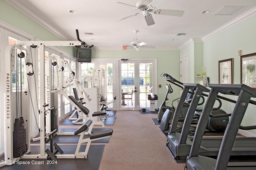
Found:
[[[50,146],[47,146],[50,148]],[[85,149],[86,145],[81,145],[81,149]],[[29,161],[30,164],[18,165],[13,164],[11,166],[1,167],[1,170],[98,170],[100,166],[100,160],[102,158],[102,152],[105,145],[91,145],[88,151],[87,159],[58,159],[58,164],[47,164],[46,159],[21,159],[20,161]],[[64,151],[64,154],[74,154],[76,145],[60,145],[60,148]],[[40,152],[40,146],[31,146],[30,154],[38,154]],[[44,161],[44,164],[31,164],[31,161]]]

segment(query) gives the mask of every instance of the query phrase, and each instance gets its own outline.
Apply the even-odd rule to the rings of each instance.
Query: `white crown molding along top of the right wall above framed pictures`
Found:
[[[252,9],[250,9],[249,11],[245,12],[244,14],[241,14],[240,16],[238,16],[237,18],[235,18],[234,20],[229,21],[228,23],[222,25],[221,27],[219,27],[218,29],[215,29],[214,31],[212,31],[211,33],[205,35],[204,37],[202,37],[202,41],[207,41],[208,39],[211,39],[212,37],[252,18],[256,16],[256,6]]]

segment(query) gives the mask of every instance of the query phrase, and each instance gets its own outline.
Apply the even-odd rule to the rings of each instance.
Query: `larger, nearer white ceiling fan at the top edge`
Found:
[[[153,17],[150,14],[150,12],[152,12],[154,14],[159,14],[159,15],[178,16],[178,17],[181,17],[184,14],[184,11],[156,9],[157,6],[160,6],[161,4],[163,4],[166,1],[168,1],[168,0],[153,0],[153,1],[151,1],[151,0],[141,0],[141,1],[136,3],[136,6],[132,6],[132,5],[129,5],[129,4],[124,4],[122,2],[113,2],[113,3],[122,4],[122,5],[126,5],[126,6],[132,6],[132,7],[134,7],[133,9],[139,11],[136,14],[126,16],[124,18],[121,18],[120,20],[116,20],[115,22],[122,21],[122,20],[125,20],[126,18],[130,18],[132,16],[136,16],[136,15],[142,13],[145,20],[146,20],[146,23],[149,26],[149,25],[154,25],[155,24],[155,22],[153,20]]]

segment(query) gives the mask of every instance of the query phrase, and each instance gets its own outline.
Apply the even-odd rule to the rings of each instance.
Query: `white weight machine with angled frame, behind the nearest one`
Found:
[[[51,93],[54,96],[53,98],[56,99],[56,101],[53,101],[53,103],[58,103],[57,101],[58,94],[60,94],[64,96],[67,100],[69,100],[73,106],[76,106],[76,104],[74,104],[74,102],[70,100],[70,98],[68,98],[69,95],[65,92],[65,89],[70,87],[71,85],[74,85],[78,98],[82,104],[86,104],[86,102],[84,101],[85,99],[87,99],[87,102],[89,102],[88,106],[91,105],[91,102],[94,102],[91,100],[92,97],[88,96],[86,90],[83,88],[80,81],[78,81],[78,79],[75,76],[75,73],[70,68],[66,60],[61,59],[60,57],[51,56],[47,58],[46,65],[47,65],[46,68],[49,68],[49,70],[47,69],[47,72],[46,72],[46,78],[48,78],[49,80],[48,86],[50,86],[50,89],[52,89]],[[67,71],[69,73],[68,74],[69,77],[66,78],[65,80],[64,80],[64,75],[62,73],[63,71]],[[88,108],[90,112],[88,113],[88,115],[85,115],[85,113],[82,113],[79,110],[79,108],[76,107],[76,109],[78,109],[77,110],[78,117],[75,121],[73,121],[73,123],[83,124],[88,120],[89,117],[91,118],[96,117],[92,119],[93,121],[90,127],[92,128],[93,125],[102,125],[102,127],[105,127],[104,121],[102,120],[101,115],[93,116],[93,113],[100,110],[93,110],[91,108]],[[88,133],[91,134],[91,131],[89,131]]]

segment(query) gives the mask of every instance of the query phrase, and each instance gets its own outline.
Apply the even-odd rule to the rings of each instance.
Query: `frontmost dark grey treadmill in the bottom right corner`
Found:
[[[209,87],[211,87],[210,94],[206,101],[206,106],[204,107],[204,110],[200,116],[198,128],[196,128],[196,133],[194,135],[190,154],[186,160],[185,168],[187,170],[224,170],[229,168],[245,169],[244,166],[246,166],[246,170],[255,169],[256,162],[229,162],[229,158],[232,154],[232,150],[234,150],[236,140],[238,139],[236,138],[236,135],[248,104],[251,103],[256,105],[255,101],[250,100],[251,97],[256,97],[256,90],[246,86],[245,84],[210,84]],[[228,122],[224,137],[221,141],[217,159],[214,159],[201,156],[199,155],[199,152],[204,135],[204,127],[206,126],[208,117],[210,115],[210,107],[214,105],[214,98],[217,97],[218,93],[236,96],[239,95],[239,97]],[[251,127],[255,128],[255,126]],[[248,129],[250,129],[250,127],[248,127]],[[247,149],[250,149],[250,144],[248,144],[246,141],[247,139],[242,140],[244,141],[244,145],[247,146]],[[255,149],[256,140],[252,144],[254,145]]]

